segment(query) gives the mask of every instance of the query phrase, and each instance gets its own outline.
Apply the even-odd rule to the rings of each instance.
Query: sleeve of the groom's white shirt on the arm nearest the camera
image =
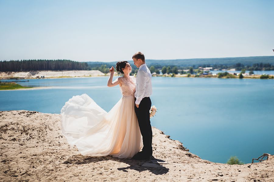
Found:
[[[146,91],[146,72],[139,70],[137,74],[139,83],[135,104],[139,105]]]

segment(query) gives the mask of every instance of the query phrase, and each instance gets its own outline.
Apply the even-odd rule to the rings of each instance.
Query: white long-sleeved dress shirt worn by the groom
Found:
[[[135,104],[139,105],[141,100],[145,97],[149,97],[152,94],[151,73],[145,64],[139,67],[136,76],[136,91],[135,91]]]

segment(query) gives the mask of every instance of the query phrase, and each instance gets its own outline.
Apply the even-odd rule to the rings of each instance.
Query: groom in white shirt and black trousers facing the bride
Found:
[[[132,159],[147,160],[152,156],[152,130],[149,119],[149,110],[151,100],[149,96],[152,94],[151,73],[146,66],[145,56],[141,52],[136,52],[132,56],[134,65],[139,68],[136,77],[135,91],[135,113],[138,119],[140,131],[143,137],[143,149],[137,153]]]

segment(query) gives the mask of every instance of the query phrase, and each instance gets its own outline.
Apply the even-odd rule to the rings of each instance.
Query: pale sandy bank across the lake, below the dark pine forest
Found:
[[[33,72],[0,72],[0,77],[19,77],[19,78],[36,78],[37,76],[45,78],[59,76],[104,76],[99,70],[73,70],[73,71],[33,71]]]

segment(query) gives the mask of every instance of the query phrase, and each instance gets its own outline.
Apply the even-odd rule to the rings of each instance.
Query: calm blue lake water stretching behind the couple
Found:
[[[0,110],[60,113],[74,95],[88,94],[109,111],[121,98],[108,77],[30,79],[23,86],[52,89],[0,91]],[[202,159],[251,163],[274,154],[274,80],[153,77],[152,126],[179,140]]]

